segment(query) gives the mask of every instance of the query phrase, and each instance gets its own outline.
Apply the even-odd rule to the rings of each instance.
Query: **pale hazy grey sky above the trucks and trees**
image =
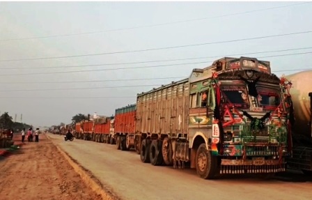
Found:
[[[0,114],[34,126],[111,116],[224,56],[312,69],[312,2],[0,2],[0,16]]]

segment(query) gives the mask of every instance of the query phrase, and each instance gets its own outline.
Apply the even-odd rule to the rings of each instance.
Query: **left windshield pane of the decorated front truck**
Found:
[[[243,85],[221,85],[224,102],[241,109],[249,108],[249,97],[246,86]]]

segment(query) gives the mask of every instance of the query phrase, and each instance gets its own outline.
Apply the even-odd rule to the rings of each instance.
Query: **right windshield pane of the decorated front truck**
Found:
[[[258,92],[258,104],[265,110],[274,110],[281,103],[280,93],[277,89],[269,89],[263,86],[256,87]]]

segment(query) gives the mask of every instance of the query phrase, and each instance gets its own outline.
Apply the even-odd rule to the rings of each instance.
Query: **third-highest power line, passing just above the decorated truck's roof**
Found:
[[[130,65],[130,64],[140,64],[140,63],[155,63],[155,62],[169,62],[169,61],[186,61],[186,60],[195,60],[195,59],[212,59],[212,58],[220,58],[227,56],[240,56],[240,55],[251,55],[251,54],[265,54],[272,52],[288,52],[295,50],[303,50],[303,49],[312,49],[312,47],[302,47],[295,49],[281,49],[274,51],[264,51],[264,52],[251,52],[251,53],[240,53],[240,54],[227,54],[226,56],[205,56],[205,57],[195,57],[195,58],[187,58],[187,59],[167,59],[167,60],[158,60],[158,61],[139,61],[139,62],[129,62],[129,63],[104,63],[104,64],[93,64],[93,65],[81,65],[81,66],[55,66],[55,67],[33,67],[33,68],[0,68],[0,70],[19,70],[19,69],[54,69],[54,68],[81,68],[81,67],[91,67],[91,66],[119,66],[119,65]]]

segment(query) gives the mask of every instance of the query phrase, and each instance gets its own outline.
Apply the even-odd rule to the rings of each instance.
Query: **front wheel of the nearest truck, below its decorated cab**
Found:
[[[217,157],[212,156],[205,144],[198,147],[196,153],[196,171],[199,177],[211,179],[217,172]]]

